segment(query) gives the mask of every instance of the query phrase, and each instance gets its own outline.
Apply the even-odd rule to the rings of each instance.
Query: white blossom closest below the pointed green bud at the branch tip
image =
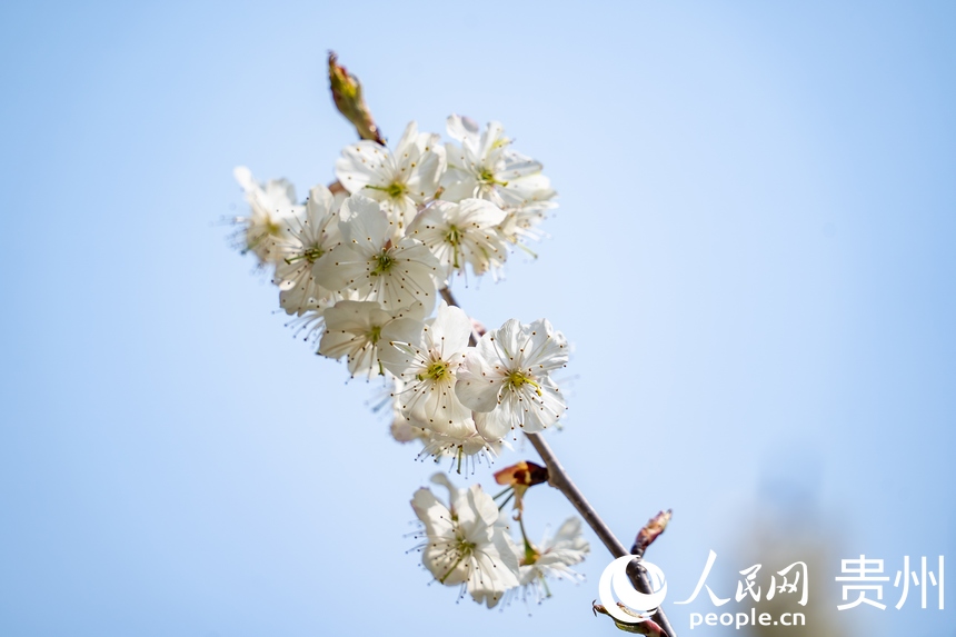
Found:
[[[347,146],[336,161],[336,177],[349,192],[380,201],[398,238],[438,190],[445,172],[445,149],[438,141],[438,135],[419,133],[412,121],[395,151],[368,140]]]

